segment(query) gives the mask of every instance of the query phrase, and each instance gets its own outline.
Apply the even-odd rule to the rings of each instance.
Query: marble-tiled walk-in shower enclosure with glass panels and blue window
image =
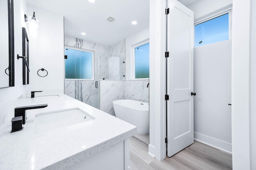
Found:
[[[100,109],[100,81],[125,79],[124,40],[106,46],[65,36],[64,93]]]

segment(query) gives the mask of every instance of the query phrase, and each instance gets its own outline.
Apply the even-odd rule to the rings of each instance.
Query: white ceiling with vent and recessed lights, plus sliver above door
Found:
[[[196,0],[179,0],[184,5]],[[149,0],[27,0],[29,4],[64,16],[65,35],[113,45],[149,26]],[[110,23],[111,16],[116,21]],[[38,18],[40,20],[40,18]],[[136,20],[137,25],[131,22]],[[81,32],[86,35],[82,36]]]

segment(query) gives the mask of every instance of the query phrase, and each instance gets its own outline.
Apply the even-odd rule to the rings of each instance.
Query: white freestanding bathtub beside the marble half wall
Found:
[[[116,117],[137,127],[138,134],[149,134],[149,103],[135,100],[113,101]]]

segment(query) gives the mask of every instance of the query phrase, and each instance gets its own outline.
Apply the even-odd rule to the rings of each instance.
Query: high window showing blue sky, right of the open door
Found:
[[[229,12],[195,25],[195,47],[229,40]]]

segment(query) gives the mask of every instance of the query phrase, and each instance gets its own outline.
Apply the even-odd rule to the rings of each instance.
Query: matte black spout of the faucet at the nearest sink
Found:
[[[14,109],[14,117],[22,116],[22,124],[24,125],[26,123],[26,119],[27,119],[26,110],[39,109],[39,108],[44,108],[47,106],[48,106],[47,104],[42,104],[42,105],[16,107]]]

